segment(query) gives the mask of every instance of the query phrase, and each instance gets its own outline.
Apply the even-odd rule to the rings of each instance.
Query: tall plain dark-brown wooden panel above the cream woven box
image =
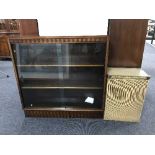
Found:
[[[110,67],[141,67],[147,19],[110,19]]]

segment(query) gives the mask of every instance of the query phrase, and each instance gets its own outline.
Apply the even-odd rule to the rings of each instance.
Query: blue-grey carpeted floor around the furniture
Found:
[[[146,43],[142,68],[151,75],[140,123],[98,119],[25,118],[11,61],[0,61],[0,134],[155,134],[155,47]]]

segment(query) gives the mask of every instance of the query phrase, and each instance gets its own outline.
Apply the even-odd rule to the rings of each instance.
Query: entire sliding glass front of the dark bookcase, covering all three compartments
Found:
[[[106,44],[14,44],[24,105],[101,108]]]

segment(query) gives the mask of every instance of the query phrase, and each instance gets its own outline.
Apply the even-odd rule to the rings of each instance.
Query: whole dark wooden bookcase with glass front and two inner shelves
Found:
[[[26,116],[103,118],[108,36],[22,37],[10,43]]]

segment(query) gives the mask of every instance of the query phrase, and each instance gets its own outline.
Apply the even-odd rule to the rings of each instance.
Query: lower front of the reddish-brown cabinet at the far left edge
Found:
[[[7,36],[0,37],[0,57],[3,57],[3,58],[10,57]]]

